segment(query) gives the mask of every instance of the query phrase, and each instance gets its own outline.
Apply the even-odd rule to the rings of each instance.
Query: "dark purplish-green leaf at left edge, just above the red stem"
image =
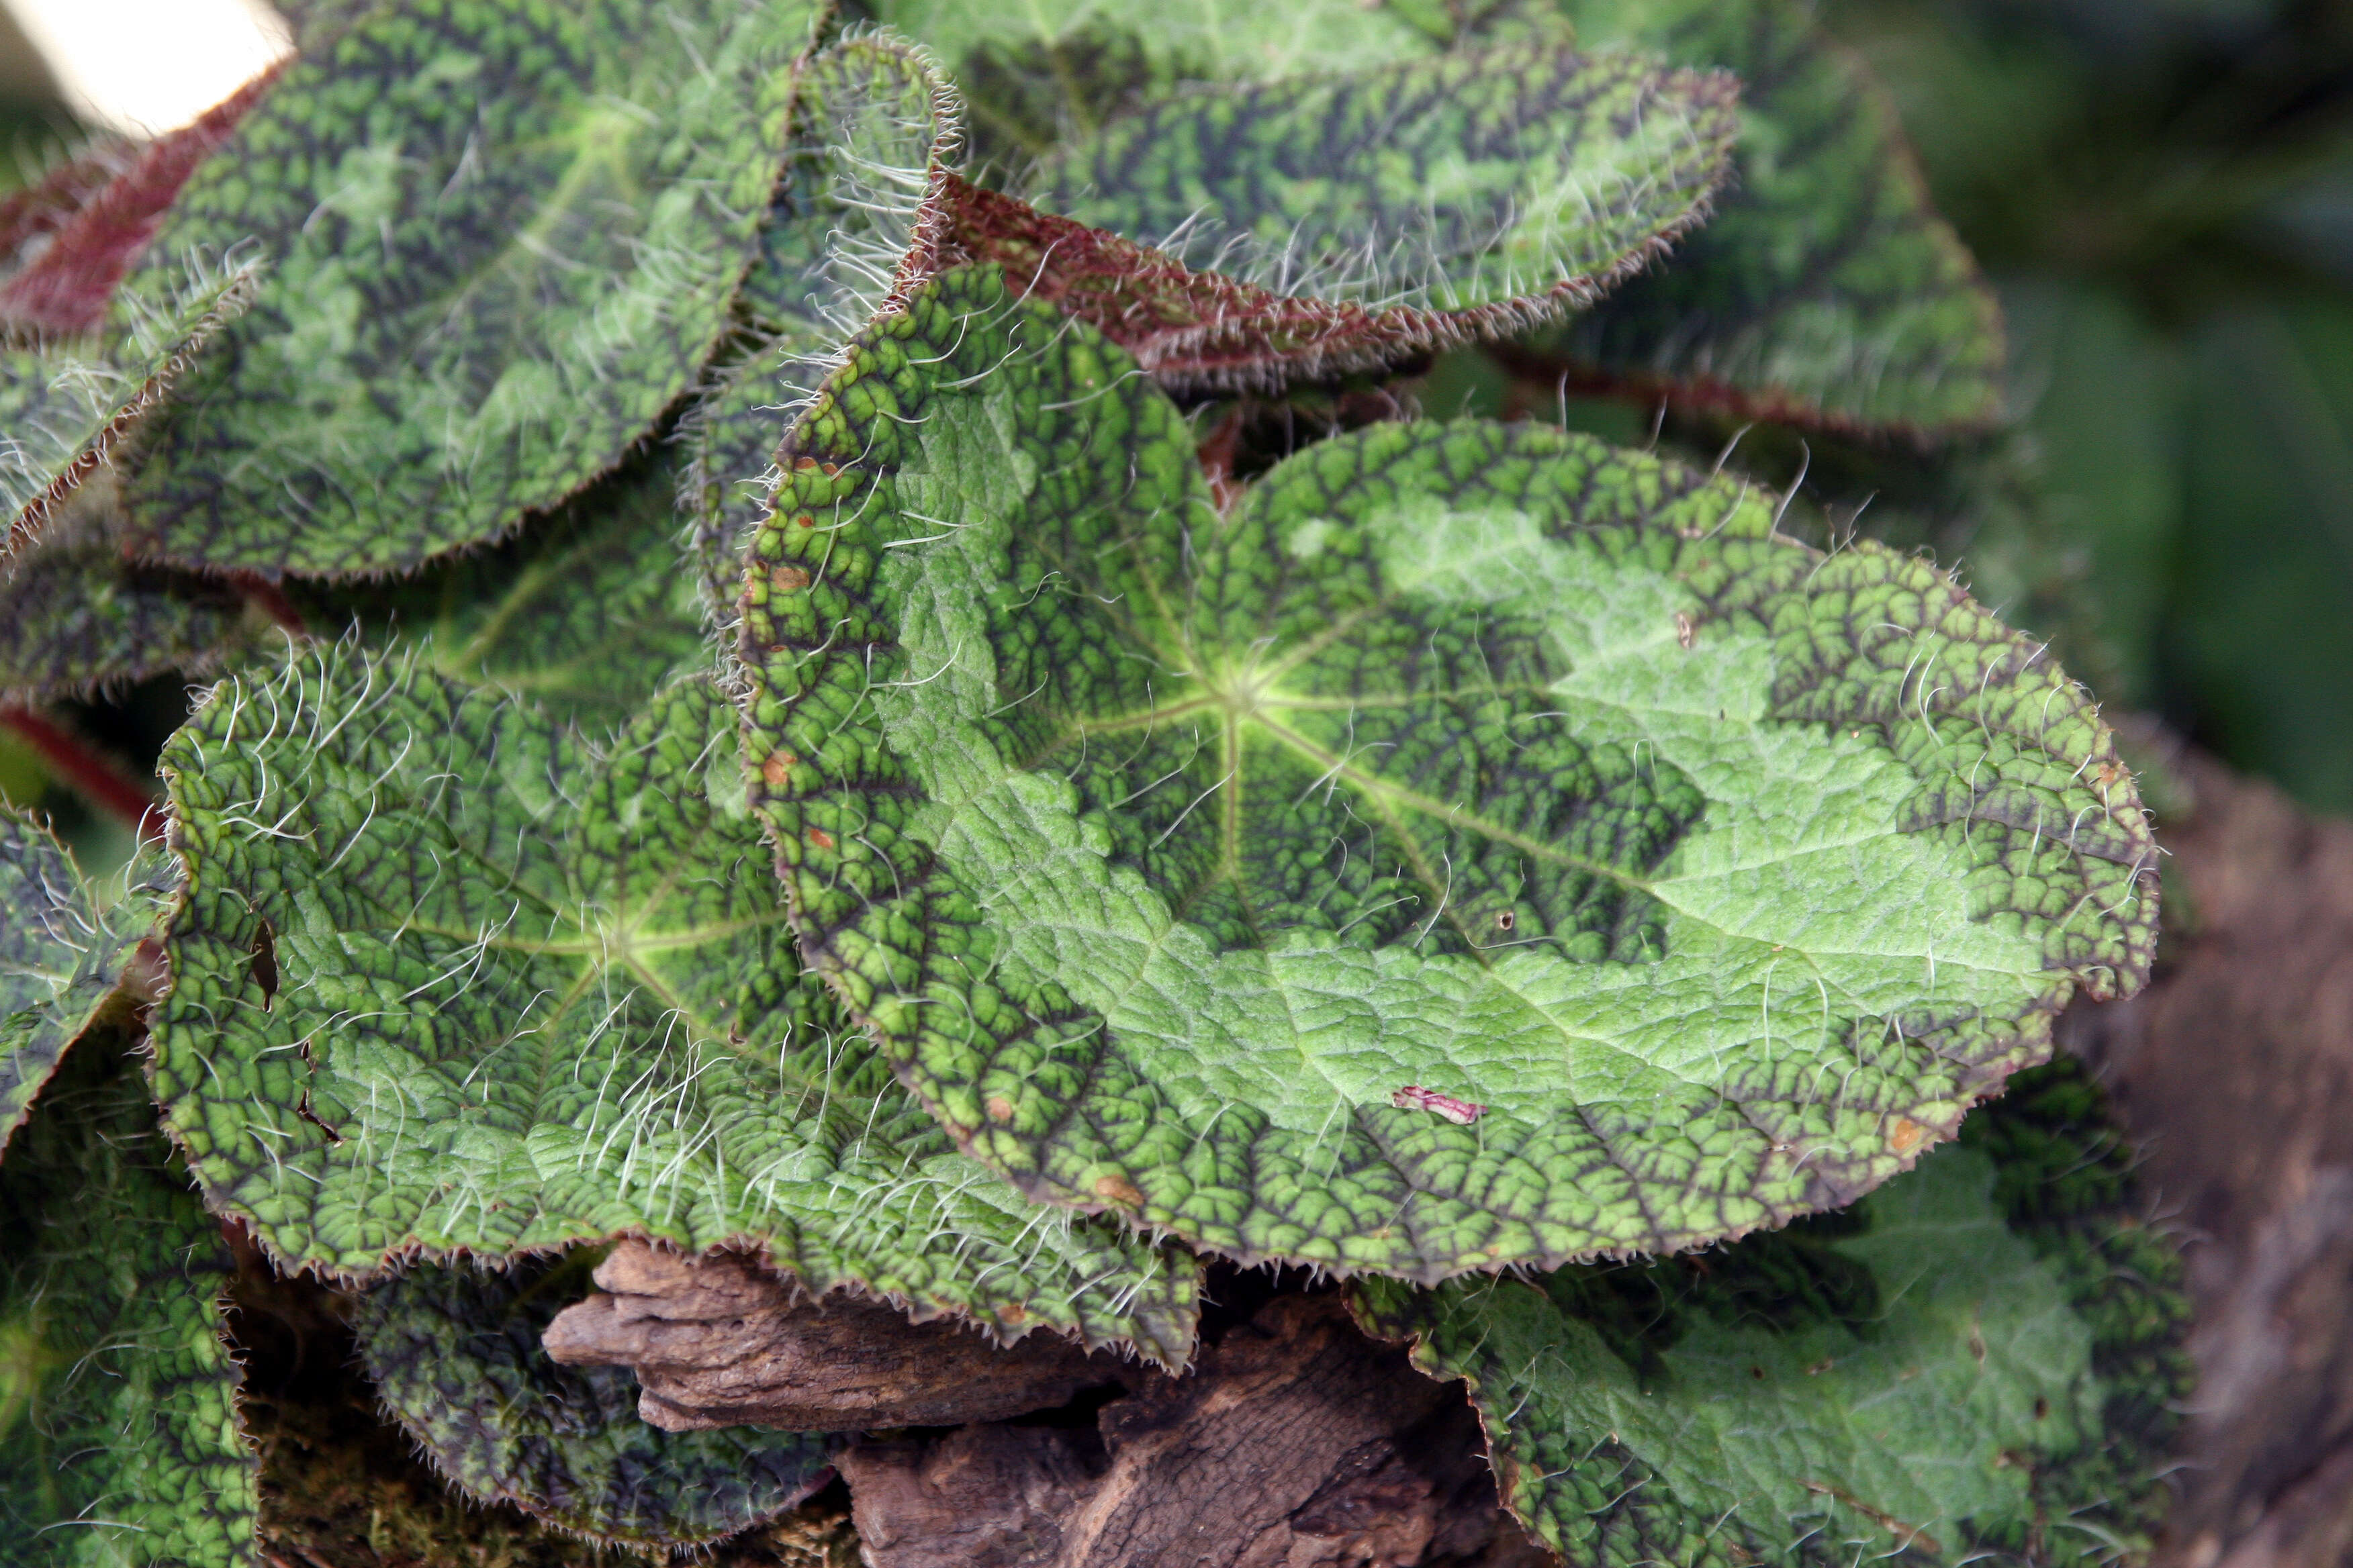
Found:
[[[268,616],[238,588],[134,562],[127,536],[115,475],[101,470],[0,574],[0,703],[212,675],[268,642]]]

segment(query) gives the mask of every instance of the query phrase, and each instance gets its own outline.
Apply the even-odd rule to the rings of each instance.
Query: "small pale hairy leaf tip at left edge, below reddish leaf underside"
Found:
[[[245,261],[195,270],[181,284],[158,266],[144,282],[151,294],[125,292],[125,327],[108,348],[80,339],[0,348],[0,505],[9,515],[0,583],[59,505],[172,393],[195,353],[245,313],[259,268]]]

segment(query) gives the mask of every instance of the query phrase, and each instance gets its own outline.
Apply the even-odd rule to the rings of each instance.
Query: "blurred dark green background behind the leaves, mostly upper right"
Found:
[[[1817,9],[2002,294],[2017,428],[1932,456],[1762,430],[1739,461],[1774,482],[1809,461],[1831,527],[1871,496],[1866,531],[1958,559],[2111,710],[2353,813],[2353,5]],[[75,134],[26,54],[0,14],[0,183]],[[1442,362],[1424,400],[1487,404],[1497,374]],[[176,717],[165,686],[64,717],[144,766]],[[127,849],[5,736],[0,795],[101,860]]]

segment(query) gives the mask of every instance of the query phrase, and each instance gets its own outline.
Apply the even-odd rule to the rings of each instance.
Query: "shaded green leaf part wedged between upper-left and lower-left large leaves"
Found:
[[[678,454],[656,447],[492,550],[391,588],[296,585],[320,630],[416,646],[459,682],[520,691],[560,719],[621,724],[671,677],[711,665],[678,559]]]

